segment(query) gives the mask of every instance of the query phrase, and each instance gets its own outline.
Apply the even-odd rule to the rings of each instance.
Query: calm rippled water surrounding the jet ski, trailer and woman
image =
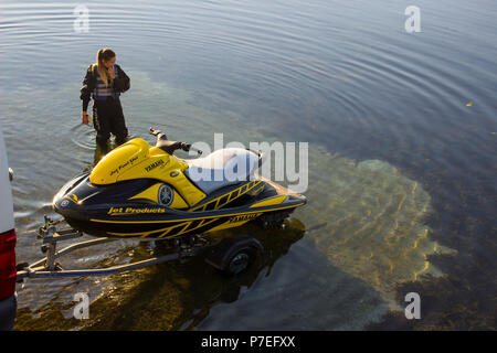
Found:
[[[404,10],[421,9],[408,33]],[[131,78],[133,136],[308,141],[309,204],[286,231],[251,227],[267,264],[226,279],[199,259],[108,278],[18,285],[18,330],[495,329],[497,7],[462,1],[86,1],[0,4],[0,118],[18,257],[95,133],[78,89],[109,46]],[[151,141],[151,139],[149,139]],[[121,242],[71,266],[144,258]],[[72,319],[91,296],[91,320]],[[406,320],[408,292],[422,319]]]

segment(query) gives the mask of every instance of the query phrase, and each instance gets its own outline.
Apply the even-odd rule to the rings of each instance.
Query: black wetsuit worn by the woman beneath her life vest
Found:
[[[116,64],[115,66],[117,72],[116,78],[113,79],[113,89],[116,94],[120,94],[129,89],[130,79],[119,65]],[[92,69],[91,65],[83,79],[83,87],[81,88],[80,98],[83,99],[83,111],[86,111],[88,108],[92,93],[96,86],[96,79],[95,71]],[[93,126],[97,131],[96,142],[102,148],[106,148],[110,133],[116,137],[117,145],[126,141],[128,129],[126,128],[123,106],[120,105],[118,95],[109,96],[106,100],[94,99]]]

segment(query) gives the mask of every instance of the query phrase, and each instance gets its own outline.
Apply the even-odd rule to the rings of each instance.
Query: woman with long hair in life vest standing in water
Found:
[[[87,125],[89,116],[86,113],[91,95],[93,95],[93,126],[97,131],[96,142],[105,152],[110,132],[116,137],[116,145],[126,142],[126,128],[119,95],[129,89],[129,77],[116,64],[116,53],[108,49],[97,52],[96,64],[89,65],[81,88],[83,99],[83,124]]]

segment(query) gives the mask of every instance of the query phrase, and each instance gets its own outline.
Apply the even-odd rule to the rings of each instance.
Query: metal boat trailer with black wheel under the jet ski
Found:
[[[247,236],[225,238],[221,240],[220,246],[209,245],[209,240],[207,240],[203,235],[190,235],[188,237],[177,237],[163,240],[154,238],[133,238],[135,240],[169,242],[168,245],[175,249],[175,253],[106,268],[64,269],[61,264],[56,261],[56,259],[63,255],[81,248],[121,239],[118,237],[95,238],[75,243],[57,250],[59,242],[80,238],[84,235],[83,232],[74,228],[59,228],[59,225],[64,221],[64,218],[51,220],[46,215],[44,216],[44,225],[39,227],[36,237],[42,239],[41,249],[46,256],[31,265],[28,263],[18,264],[18,282],[22,282],[25,278],[107,276],[171,260],[183,260],[198,255],[201,250],[204,250],[205,247],[212,247],[212,250],[205,257],[208,264],[229,275],[236,275],[248,266],[250,260],[253,260],[248,255],[252,254],[255,256],[263,253],[262,245],[255,238]]]

